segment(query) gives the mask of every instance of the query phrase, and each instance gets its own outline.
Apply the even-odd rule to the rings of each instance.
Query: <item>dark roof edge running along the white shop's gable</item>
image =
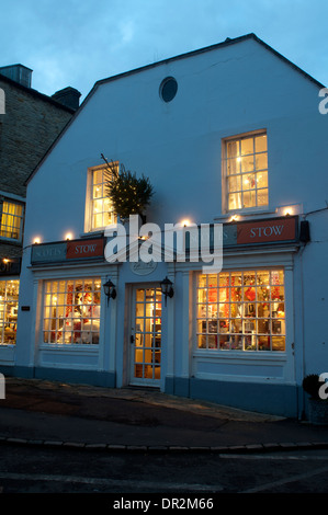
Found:
[[[86,99],[83,100],[83,102],[81,103],[79,110],[76,112],[76,114],[70,118],[70,121],[68,122],[68,124],[66,125],[66,127],[64,128],[64,130],[61,131],[61,134],[58,135],[58,137],[55,139],[55,141],[53,142],[53,145],[50,146],[50,148],[48,149],[48,151],[45,153],[45,156],[43,157],[43,159],[41,160],[41,162],[36,165],[36,168],[32,171],[31,175],[27,178],[25,184],[27,184],[30,182],[30,180],[34,176],[34,174],[37,172],[37,170],[39,169],[41,164],[44,162],[44,160],[47,158],[47,156],[50,153],[50,151],[53,150],[53,148],[57,145],[58,140],[63,137],[63,135],[66,133],[66,130],[70,127],[70,125],[75,122],[75,118],[76,116],[79,115],[79,113],[81,112],[81,110],[84,107],[84,105],[87,104],[87,102],[90,100],[90,98],[95,93],[95,91],[98,90],[98,88],[102,84],[105,84],[105,83],[109,83],[109,82],[112,82],[114,80],[118,80],[118,79],[122,79],[124,77],[128,77],[128,76],[132,76],[132,75],[135,75],[135,73],[140,73],[142,71],[145,71],[145,70],[149,70],[151,68],[156,68],[156,67],[159,67],[159,66],[162,66],[162,65],[167,65],[169,62],[174,62],[174,61],[178,61],[178,60],[181,60],[181,59],[188,59],[190,57],[193,57],[193,56],[197,56],[197,55],[201,55],[201,54],[205,54],[205,53],[208,53],[208,52],[212,52],[212,50],[217,50],[219,48],[223,48],[223,47],[226,47],[226,46],[230,46],[230,45],[236,45],[238,43],[241,43],[244,41],[247,41],[247,39],[253,39],[255,42],[259,43],[260,45],[262,45],[267,50],[269,50],[270,53],[274,54],[279,59],[281,59],[283,62],[285,62],[286,65],[289,65],[291,68],[293,68],[295,71],[297,71],[298,73],[301,73],[305,79],[312,81],[315,85],[317,85],[319,89],[321,88],[325,88],[324,84],[321,84],[319,81],[317,81],[316,79],[314,79],[312,76],[309,76],[306,71],[302,70],[298,66],[294,65],[294,62],[292,62],[291,60],[289,60],[286,57],[284,57],[282,54],[280,54],[279,52],[274,50],[274,48],[272,48],[270,45],[268,45],[267,43],[264,43],[262,39],[260,39],[256,34],[253,33],[250,33],[250,34],[246,34],[244,36],[239,36],[239,37],[235,37],[235,38],[229,38],[227,37],[224,42],[222,43],[217,43],[215,45],[211,45],[211,46],[206,46],[204,48],[200,48],[197,50],[192,50],[192,52],[188,52],[185,54],[181,54],[181,55],[178,55],[176,57],[170,57],[168,59],[162,59],[160,61],[157,61],[157,62],[152,62],[150,65],[146,65],[146,66],[143,66],[143,67],[139,67],[139,68],[135,68],[131,71],[125,71],[123,73],[118,73],[116,76],[112,76],[112,77],[109,77],[106,79],[101,79],[99,81],[97,81],[93,85],[93,88],[90,90],[90,92],[88,93],[88,95],[86,96]]]

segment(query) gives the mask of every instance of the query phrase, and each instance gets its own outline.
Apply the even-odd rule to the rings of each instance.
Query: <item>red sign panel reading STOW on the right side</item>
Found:
[[[296,239],[297,217],[238,224],[237,243],[265,243]]]

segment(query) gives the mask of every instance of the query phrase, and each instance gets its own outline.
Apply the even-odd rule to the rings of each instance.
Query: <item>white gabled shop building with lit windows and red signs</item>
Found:
[[[30,178],[0,369],[299,416],[328,371],[323,88],[252,34],[97,82]],[[101,154],[149,178],[147,222],[223,224],[222,271],[109,263]]]

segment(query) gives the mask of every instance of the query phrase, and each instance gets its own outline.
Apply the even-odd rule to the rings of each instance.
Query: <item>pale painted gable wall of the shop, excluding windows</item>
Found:
[[[168,76],[179,89],[166,104],[159,87]],[[317,84],[252,39],[99,84],[29,184],[24,245],[35,236],[49,242],[68,230],[75,238],[83,233],[87,170],[102,164],[101,153],[150,178],[156,195],[148,221],[213,221],[223,215],[222,139],[262,128],[268,131],[270,215],[290,204],[297,204],[298,213],[325,207],[328,115],[319,114],[318,92]],[[303,346],[308,369],[327,363],[327,211],[310,221],[320,243],[306,247],[302,271],[299,255],[294,263],[298,380]],[[22,267],[24,304],[36,295],[27,265],[29,252]],[[21,363],[32,352],[22,344],[31,321],[32,313],[20,312]],[[178,356],[181,369],[182,359]]]

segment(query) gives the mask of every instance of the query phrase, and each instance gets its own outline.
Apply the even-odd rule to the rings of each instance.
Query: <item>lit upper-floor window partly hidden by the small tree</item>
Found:
[[[111,172],[103,167],[89,171],[87,202],[87,231],[104,229],[116,220],[111,198],[106,194],[106,182]]]

